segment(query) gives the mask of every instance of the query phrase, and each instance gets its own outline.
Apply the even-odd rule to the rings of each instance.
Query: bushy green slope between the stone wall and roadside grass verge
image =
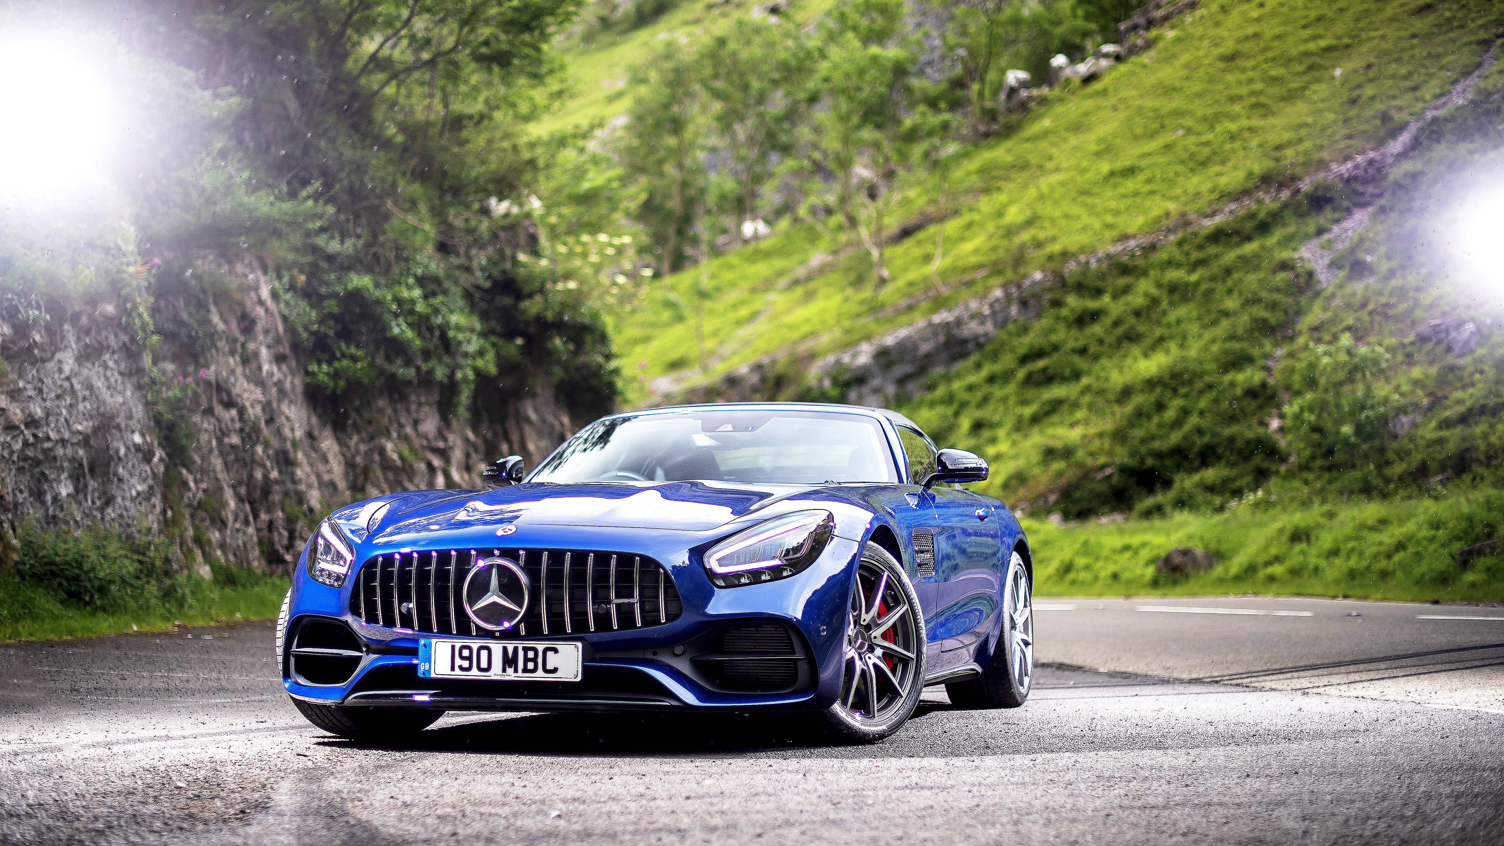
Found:
[[[1339,253],[1342,275],[1330,288],[1319,289],[1296,250],[1348,203],[1307,191],[1071,274],[1038,321],[1008,327],[905,411],[935,438],[993,459],[991,492],[1068,518],[1217,507],[1277,471],[1333,495],[1438,476],[1495,483],[1504,310],[1496,272],[1490,280],[1471,268],[1469,253],[1486,253],[1492,239],[1466,244],[1459,218],[1478,215],[1480,190],[1504,196],[1501,93],[1504,68],[1495,66],[1396,169],[1384,202]],[[1475,351],[1457,357],[1414,337],[1447,318],[1474,324]],[[1417,417],[1375,440],[1358,467],[1324,465],[1321,455],[1292,467],[1278,431],[1292,396],[1355,388],[1302,384],[1314,348],[1343,334],[1388,354],[1372,381],[1393,391],[1391,415]]]

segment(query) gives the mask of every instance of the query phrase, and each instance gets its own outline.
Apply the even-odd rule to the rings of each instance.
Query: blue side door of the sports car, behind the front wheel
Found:
[[[922,432],[908,435],[922,441],[925,450],[937,452]],[[904,446],[908,449],[907,440]],[[997,515],[987,500],[951,485],[935,485],[928,494],[934,510],[934,575],[925,628],[928,671],[938,673],[972,661],[978,644],[997,625],[1002,546]]]

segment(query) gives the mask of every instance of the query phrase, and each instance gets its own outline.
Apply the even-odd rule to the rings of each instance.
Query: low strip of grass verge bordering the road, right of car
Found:
[[[1361,599],[1499,599],[1504,555],[1457,552],[1499,530],[1498,491],[1438,491],[1372,503],[1269,501],[1223,513],[1056,527],[1026,519],[1044,595],[1286,593]],[[1218,558],[1206,574],[1164,578],[1154,563],[1176,546]]]

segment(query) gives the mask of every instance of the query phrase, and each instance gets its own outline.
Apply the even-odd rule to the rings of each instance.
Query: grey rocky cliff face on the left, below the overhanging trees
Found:
[[[0,534],[26,519],[104,525],[165,533],[200,575],[215,557],[286,568],[332,507],[475,488],[484,462],[516,453],[531,467],[573,431],[520,372],[469,418],[438,388],[320,403],[263,268],[218,271],[208,307],[158,298],[155,391],[119,303],[0,321]]]

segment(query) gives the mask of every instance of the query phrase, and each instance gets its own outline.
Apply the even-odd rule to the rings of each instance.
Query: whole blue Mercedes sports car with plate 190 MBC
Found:
[[[1014,708],[1032,565],[987,462],[899,414],[815,403],[605,417],[486,491],[341,507],[277,623],[314,726],[393,738],[445,711],[799,711],[898,730],[926,685]]]

